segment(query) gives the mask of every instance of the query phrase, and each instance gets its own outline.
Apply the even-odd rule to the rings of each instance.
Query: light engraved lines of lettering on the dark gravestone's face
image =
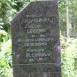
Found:
[[[54,37],[52,37],[53,32],[51,33],[49,30],[51,24],[47,25],[46,23],[53,23],[53,18],[34,16],[32,15],[30,17],[27,15],[27,17],[30,18],[27,18],[24,21],[22,27],[24,29],[24,38],[17,39],[20,46],[22,43],[22,45],[26,47],[26,50],[24,51],[24,61],[25,63],[51,62],[52,51],[49,47],[54,41]],[[50,35],[48,35],[47,32],[49,32],[48,34]]]

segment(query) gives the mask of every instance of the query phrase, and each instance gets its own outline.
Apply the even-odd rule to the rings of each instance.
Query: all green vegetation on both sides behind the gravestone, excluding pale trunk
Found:
[[[12,77],[10,22],[31,0],[0,0],[0,77]],[[77,0],[69,0],[69,36],[66,37],[66,1],[59,0],[62,77],[77,76]]]

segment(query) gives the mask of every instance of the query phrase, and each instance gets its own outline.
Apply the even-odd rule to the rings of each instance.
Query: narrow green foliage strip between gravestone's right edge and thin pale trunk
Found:
[[[66,36],[66,2],[65,0],[59,0],[59,21],[60,30],[63,36]]]

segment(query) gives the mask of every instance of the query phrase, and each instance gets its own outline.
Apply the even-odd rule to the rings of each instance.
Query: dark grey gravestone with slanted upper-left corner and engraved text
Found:
[[[31,2],[13,19],[14,77],[61,77],[57,2]]]

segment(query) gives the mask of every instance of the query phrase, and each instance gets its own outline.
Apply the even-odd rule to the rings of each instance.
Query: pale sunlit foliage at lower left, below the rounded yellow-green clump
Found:
[[[0,50],[0,77],[12,77],[11,39],[3,42]]]

